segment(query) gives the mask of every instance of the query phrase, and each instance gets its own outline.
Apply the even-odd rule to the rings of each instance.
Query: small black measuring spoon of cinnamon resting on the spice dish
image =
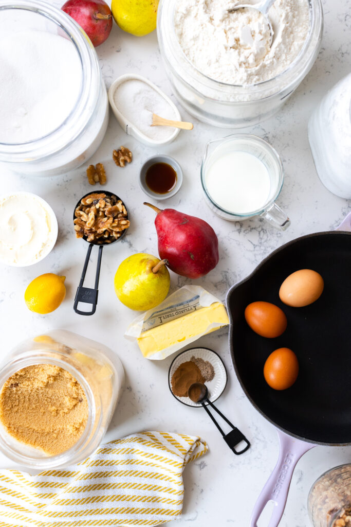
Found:
[[[250,447],[249,441],[246,439],[244,434],[240,432],[240,430],[238,430],[238,428],[236,428],[233,423],[230,423],[229,419],[227,419],[226,416],[223,415],[222,412],[220,412],[218,408],[216,408],[215,405],[209,400],[208,390],[205,384],[203,384],[202,382],[193,383],[189,386],[187,395],[194,403],[202,404],[204,410],[208,413],[214,424],[217,426],[219,432],[223,436],[224,441],[227,443],[230,450],[234,452],[234,454],[243,454],[248,450],[248,448]],[[232,427],[232,430],[230,430],[228,434],[225,434],[223,432],[222,428],[219,426],[212,413],[210,413],[205,403],[207,403],[207,405],[213,408],[217,412],[217,414],[220,415],[220,417],[222,417],[222,419],[224,419],[224,421]],[[238,446],[240,443],[245,443],[245,446],[241,450],[236,450],[236,446]]]

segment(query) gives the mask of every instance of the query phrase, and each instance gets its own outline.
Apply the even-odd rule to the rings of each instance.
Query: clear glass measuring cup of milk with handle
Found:
[[[286,229],[289,218],[275,203],[283,178],[279,155],[256,135],[234,134],[206,145],[201,183],[208,206],[221,218],[261,216]]]

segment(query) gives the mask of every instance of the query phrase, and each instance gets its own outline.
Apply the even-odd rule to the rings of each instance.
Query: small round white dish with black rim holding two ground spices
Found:
[[[188,397],[188,389],[194,383],[203,383],[212,403],[224,392],[227,372],[222,359],[212,349],[191,348],[179,353],[168,372],[168,385],[174,397],[187,406],[201,408]]]

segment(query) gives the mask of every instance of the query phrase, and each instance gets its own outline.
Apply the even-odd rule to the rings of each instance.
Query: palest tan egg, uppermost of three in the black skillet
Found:
[[[279,289],[279,298],[287,306],[304,307],[322,295],[323,278],[312,269],[300,269],[285,278]]]

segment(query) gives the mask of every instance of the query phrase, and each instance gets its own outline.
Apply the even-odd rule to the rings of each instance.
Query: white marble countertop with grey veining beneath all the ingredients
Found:
[[[273,145],[282,157],[285,181],[278,204],[288,211],[291,226],[274,230],[260,219],[243,223],[221,220],[207,208],[200,188],[199,167],[207,141],[231,133],[194,122],[194,131],[180,132],[178,138],[162,149],[182,165],[184,183],[175,197],[163,204],[209,221],[218,234],[220,261],[203,279],[196,281],[221,299],[238,280],[244,278],[272,250],[310,232],[333,229],[346,215],[350,203],[328,192],[320,183],[307,140],[307,121],[329,87],[349,72],[351,64],[351,4],[348,0],[325,0],[325,28],[322,48],[312,71],[274,118],[245,131],[259,135]],[[143,38],[123,33],[114,24],[108,40],[97,48],[107,86],[123,73],[139,73],[171,94],[155,32]],[[184,120],[192,120],[179,107]],[[233,130],[233,132],[235,132]],[[190,135],[191,134],[191,135]],[[115,166],[113,148],[124,144],[134,159],[124,169]],[[81,275],[87,246],[76,240],[72,229],[74,206],[89,190],[86,165],[64,177],[34,179],[6,173],[2,168],[2,191],[31,191],[53,207],[59,234],[52,253],[35,266],[10,268],[0,265],[0,320],[2,358],[14,344],[28,335],[65,328],[111,347],[121,358],[126,372],[126,387],[114,414],[106,439],[142,430],[164,430],[199,435],[209,445],[209,453],[186,467],[184,472],[184,514],[174,521],[186,525],[248,525],[250,513],[278,455],[276,432],[245,398],[230,361],[227,332],[201,338],[196,344],[216,350],[223,358],[229,380],[218,400],[218,407],[252,443],[242,456],[234,456],[205,412],[177,403],[169,393],[167,373],[173,357],[163,362],[144,359],[136,344],[127,341],[124,331],[135,317],[116,298],[113,277],[119,263],[135,252],[157,255],[154,213],[143,206],[145,194],[139,188],[138,170],[155,150],[126,136],[111,115],[107,135],[92,162],[103,162],[109,190],[127,204],[132,226],[120,243],[104,250],[99,283],[99,302],[93,317],[73,311],[73,300]],[[161,202],[160,202],[161,203]],[[161,207],[163,206],[161,203]],[[96,254],[94,255],[96,258]],[[67,296],[54,313],[31,313],[23,295],[29,281],[44,272],[66,276]],[[190,280],[171,274],[171,291]],[[92,282],[91,282],[92,283]],[[89,286],[89,282],[86,282]],[[306,502],[310,486],[323,471],[349,462],[351,447],[317,446],[298,462],[290,487],[281,527],[309,524]],[[0,466],[13,464],[1,456]],[[260,527],[267,521],[259,523]]]

